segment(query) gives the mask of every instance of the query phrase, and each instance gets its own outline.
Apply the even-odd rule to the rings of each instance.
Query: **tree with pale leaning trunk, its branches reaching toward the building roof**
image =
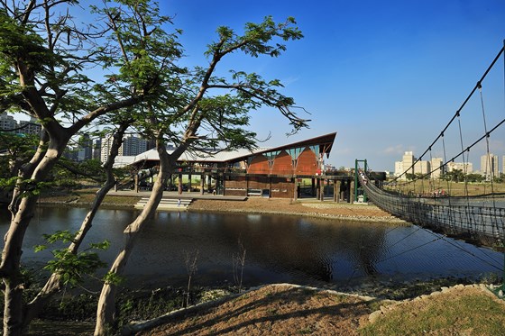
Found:
[[[115,22],[113,13],[118,12],[118,9],[107,8],[104,12],[106,17],[113,21],[111,26],[115,27],[118,44],[124,46],[124,54],[128,53],[128,44],[124,41],[128,34],[124,36],[122,32],[133,32],[139,21],[142,22],[142,27],[148,25],[144,23],[151,22],[148,17],[153,13],[141,12],[137,8],[130,10],[135,17],[133,26],[124,20]],[[125,27],[122,26],[124,23]],[[255,134],[247,131],[244,126],[248,124],[249,111],[262,105],[280,110],[293,125],[294,132],[307,126],[308,121],[300,119],[291,111],[293,99],[281,95],[277,90],[281,86],[279,80],[266,81],[257,74],[243,71],[233,71],[230,78],[215,75],[221,59],[237,51],[253,57],[279,56],[286,47],[272,40],[288,41],[302,37],[301,32],[293,26],[294,23],[292,18],[285,23],[274,23],[271,17],[267,17],[259,24],[247,23],[242,35],[227,27],[218,28],[218,40],[211,43],[207,50],[207,68],[195,68],[175,74],[177,76],[165,81],[169,84],[168,92],[163,93],[167,95],[166,99],[157,104],[142,106],[142,115],[145,118],[142,128],[146,135],[156,139],[160,169],[148,203],[144,205],[142,213],[125,229],[127,236],[124,248],[118,253],[109,270],[109,276],[116,278],[122,275],[134,242],[158,206],[162,191],[167,186],[167,178],[184,151],[216,148],[219,144],[225,144],[228,149],[253,147]],[[224,93],[220,95],[219,91],[215,90],[224,90]],[[177,146],[170,155],[166,150],[167,141]],[[115,327],[116,291],[115,281],[106,281],[97,307],[96,335],[106,334],[110,328]]]

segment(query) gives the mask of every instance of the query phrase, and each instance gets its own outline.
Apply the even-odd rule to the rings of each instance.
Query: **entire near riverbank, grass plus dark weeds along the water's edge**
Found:
[[[396,299],[292,284],[253,287],[240,294],[234,290],[201,288],[195,292],[198,304],[184,309],[178,307],[185,300],[185,290],[168,287],[145,295],[122,294],[118,307],[121,320],[128,321],[121,323],[123,335],[494,336],[505,325],[505,302],[493,295],[490,287],[438,279],[404,284],[396,288]],[[390,286],[390,290],[395,289]],[[90,295],[84,298],[86,304],[61,301],[55,309],[67,305],[73,307],[73,315],[80,312],[87,319],[76,315],[76,319],[70,319],[72,322],[61,318],[36,320],[29,335],[92,334],[96,298]]]

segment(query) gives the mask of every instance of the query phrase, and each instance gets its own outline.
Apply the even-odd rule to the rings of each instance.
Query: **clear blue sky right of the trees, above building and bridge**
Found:
[[[405,150],[420,155],[464,102],[505,39],[501,0],[403,1],[202,1],[164,0],[161,12],[184,31],[188,65],[205,65],[203,52],[216,27],[241,32],[246,22],[296,18],[304,34],[277,59],[242,58],[229,68],[279,78],[285,95],[308,110],[310,129],[286,137],[289,125],[276,111],[253,112],[251,127],[271,147],[338,132],[326,162],[337,168],[368,159],[373,169],[393,170]],[[484,81],[488,128],[503,118],[503,60]],[[461,124],[464,147],[483,134],[480,98],[469,103]],[[302,116],[304,116],[302,114]],[[504,127],[501,127],[504,128]],[[459,132],[445,136],[445,155],[461,150]],[[505,155],[504,132],[491,136],[491,152]],[[479,150],[483,150],[481,144]],[[449,149],[452,150],[451,154]],[[482,152],[469,156],[474,169]],[[443,151],[433,150],[433,156]],[[501,167],[500,167],[501,170]]]

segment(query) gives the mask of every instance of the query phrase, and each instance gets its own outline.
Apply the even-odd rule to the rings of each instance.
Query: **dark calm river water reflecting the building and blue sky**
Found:
[[[85,209],[41,207],[27,232],[23,262],[41,265],[50,251],[33,253],[41,234],[77,230]],[[86,243],[112,242],[102,255],[115,258],[124,238],[124,227],[136,212],[100,210]],[[8,228],[0,217],[0,230]],[[156,213],[142,232],[128,262],[129,279],[145,286],[177,285],[187,278],[184,255],[199,251],[196,281],[218,285],[233,281],[232,258],[246,250],[244,282],[247,286],[271,282],[309,284],[314,281],[346,283],[361,277],[473,277],[496,272],[502,254],[485,250],[490,263],[473,255],[482,251],[463,242],[464,250],[416,226],[391,228],[376,223],[342,222],[297,216],[217,213]],[[494,260],[494,261],[493,261]]]

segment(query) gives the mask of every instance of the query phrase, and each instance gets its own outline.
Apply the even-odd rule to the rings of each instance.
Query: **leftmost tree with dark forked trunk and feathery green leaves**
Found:
[[[158,53],[139,50],[139,54],[151,53],[152,59],[163,59],[157,63],[156,73],[144,72],[142,61],[125,59],[120,53],[110,27],[93,21],[78,26],[72,21],[72,6],[77,4],[74,0],[0,1],[0,111],[28,114],[43,129],[32,159],[16,172],[9,204],[12,221],[0,264],[5,283],[5,335],[23,332],[23,237],[51,168],[69,140],[87,124],[158,99],[157,74],[170,72],[170,59],[180,56],[171,38]],[[117,74],[87,76],[93,68],[113,65]]]

